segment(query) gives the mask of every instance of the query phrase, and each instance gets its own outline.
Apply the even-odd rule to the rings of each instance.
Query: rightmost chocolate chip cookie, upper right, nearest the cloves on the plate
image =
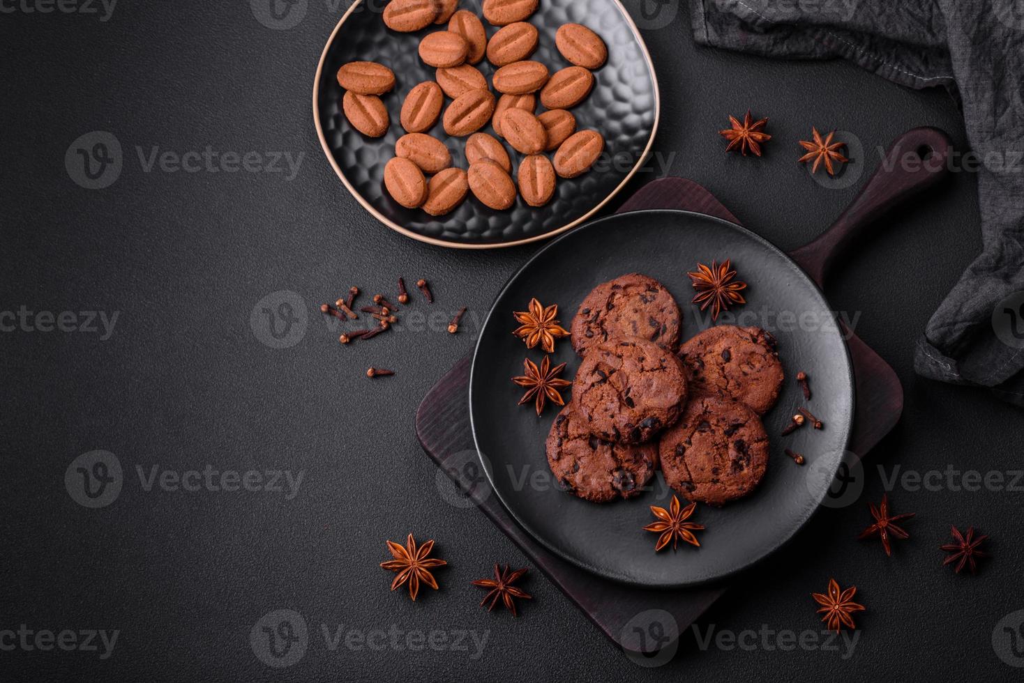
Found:
[[[760,327],[718,325],[683,343],[679,356],[693,394],[723,394],[764,414],[784,373],[775,337]]]

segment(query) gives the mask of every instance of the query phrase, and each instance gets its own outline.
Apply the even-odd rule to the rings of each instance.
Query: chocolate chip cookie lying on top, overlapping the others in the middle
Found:
[[[679,358],[637,337],[590,349],[572,382],[572,401],[590,434],[623,444],[650,441],[673,424],[686,396]]]

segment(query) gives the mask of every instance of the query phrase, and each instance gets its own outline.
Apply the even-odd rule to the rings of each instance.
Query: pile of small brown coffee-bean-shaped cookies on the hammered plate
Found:
[[[587,27],[566,24],[554,41],[569,65],[551,74],[548,65],[530,60],[541,36],[526,19],[539,2],[483,0],[483,18],[500,27],[489,39],[475,13],[458,8],[459,0],[390,0],[385,6],[384,24],[398,33],[447,25],[420,40],[420,59],[436,70],[435,80],[407,95],[399,121],[407,134],[384,169],[385,188],[399,204],[443,216],[472,192],[498,211],[510,209],[517,196],[543,207],[554,196],[558,177],[581,176],[600,156],[604,137],[595,130],[577,131],[569,109],[590,94],[592,71],[604,64],[607,47]],[[496,70],[489,86],[476,66],[484,58]],[[338,70],[338,83],[345,89],[342,108],[352,127],[368,137],[387,133],[390,117],[381,96],[395,88],[394,73],[374,61],[353,61]],[[446,106],[445,97],[451,99]],[[538,99],[546,109],[540,115]],[[456,166],[444,142],[428,133],[438,120],[446,135],[468,136],[468,172]],[[481,130],[488,124],[497,137]],[[512,157],[499,138],[522,155],[515,180]]]

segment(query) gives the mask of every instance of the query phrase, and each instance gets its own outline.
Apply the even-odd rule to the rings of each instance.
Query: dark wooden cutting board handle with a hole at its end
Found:
[[[937,128],[914,128],[896,138],[874,175],[836,223],[790,256],[823,285],[836,257],[867,226],[949,172],[951,147],[949,137]]]

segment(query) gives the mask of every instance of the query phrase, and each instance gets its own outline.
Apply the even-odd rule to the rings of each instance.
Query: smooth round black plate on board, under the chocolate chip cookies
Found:
[[[686,271],[697,262],[732,259],[750,284],[745,306],[717,324],[758,325],[778,339],[786,381],[776,407],[764,418],[771,443],[768,471],[751,496],[722,508],[698,505],[692,518],[701,547],[683,544],[654,553],[657,535],[648,505],[668,507],[672,490],[660,472],[638,498],[606,505],[589,503],[554,486],[544,442],[557,407],[536,416],[517,407],[522,359],[527,351],[511,332],[513,311],[531,297],[558,304],[568,328],[587,293],[600,282],[640,272],[662,281],[683,311],[683,338],[710,326],[710,316],[689,304],[693,289]],[[731,317],[735,314],[736,317]],[[568,340],[558,343],[553,361],[566,361],[564,376],[580,365]],[[794,381],[798,371],[813,380],[812,410],[820,431],[802,428],[780,438],[797,406],[805,405]],[[565,396],[566,401],[568,395]],[[850,435],[854,402],[846,343],[817,286],[793,261],[754,233],[726,221],[678,211],[622,214],[597,221],[548,244],[516,273],[499,294],[480,333],[470,377],[470,417],[476,447],[495,492],[516,520],[538,541],[595,574],[651,587],[681,587],[720,579],[750,566],[779,548],[827,493]],[[784,455],[791,447],[807,456],[798,466]],[[682,499],[681,499],[681,502]]]

